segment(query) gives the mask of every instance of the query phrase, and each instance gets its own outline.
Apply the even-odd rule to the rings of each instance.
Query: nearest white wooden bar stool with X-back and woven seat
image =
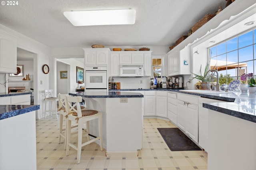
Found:
[[[77,160],[76,163],[80,163],[81,158],[81,150],[82,147],[85,145],[88,145],[94,141],[100,140],[100,150],[103,150],[103,144],[102,144],[102,114],[96,110],[83,110],[81,111],[80,102],[82,101],[81,96],[66,96],[65,105],[67,107],[68,112],[68,118],[67,118],[67,148],[66,148],[66,156],[69,154],[70,147],[77,150]],[[73,106],[72,106],[73,104]],[[78,106],[78,107],[76,107]],[[90,139],[89,137],[89,121],[93,119],[98,119],[98,130],[99,130],[99,136],[96,137],[94,135],[91,135],[94,137],[94,139]],[[73,143],[70,143],[71,138],[71,121],[78,123],[78,142],[77,146]],[[82,142],[82,131],[83,131],[83,124],[86,123],[86,137],[87,141]],[[72,137],[72,139],[74,139]]]

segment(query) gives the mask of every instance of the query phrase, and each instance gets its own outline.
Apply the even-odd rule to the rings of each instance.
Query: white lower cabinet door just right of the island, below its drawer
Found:
[[[156,96],[144,96],[145,116],[156,115]]]

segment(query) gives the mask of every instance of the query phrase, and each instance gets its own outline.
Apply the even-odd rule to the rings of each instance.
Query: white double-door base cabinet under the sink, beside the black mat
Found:
[[[179,94],[177,125],[188,137],[198,143],[198,98],[199,96]]]

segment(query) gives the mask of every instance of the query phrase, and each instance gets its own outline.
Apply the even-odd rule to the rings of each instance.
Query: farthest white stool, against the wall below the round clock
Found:
[[[58,101],[58,98],[53,96],[52,91],[53,90],[44,90],[44,94],[45,94],[45,98],[44,98],[44,106],[45,106],[44,107],[44,110],[45,110],[44,118],[46,117],[46,112],[51,112],[51,115],[52,115],[52,112],[55,112],[56,117],[57,117],[57,101]],[[51,103],[51,109],[49,109],[49,110],[46,110],[47,103]]]

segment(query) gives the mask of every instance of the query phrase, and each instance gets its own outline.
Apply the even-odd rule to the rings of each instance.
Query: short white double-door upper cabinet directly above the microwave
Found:
[[[120,64],[144,64],[144,53],[120,53]]]

